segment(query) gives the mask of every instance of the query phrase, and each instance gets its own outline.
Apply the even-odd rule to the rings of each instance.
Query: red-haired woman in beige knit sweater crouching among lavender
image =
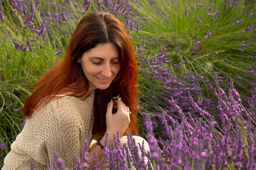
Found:
[[[65,57],[32,85],[22,113],[27,118],[22,132],[5,158],[9,169],[45,168],[45,154],[51,168],[53,152],[72,168],[74,155],[81,157],[83,144],[92,131],[103,143],[109,133],[137,132],[137,63],[125,26],[107,13],[91,13],[82,18],[74,31]],[[113,101],[120,95],[121,100]],[[96,151],[100,163],[100,144]],[[78,156],[79,155],[79,156]]]

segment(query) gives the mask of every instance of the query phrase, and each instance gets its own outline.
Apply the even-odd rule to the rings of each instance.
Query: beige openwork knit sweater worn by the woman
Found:
[[[30,169],[33,159],[35,169],[45,169],[45,153],[52,169],[54,150],[72,169],[73,156],[80,160],[84,141],[93,130],[94,96],[95,92],[83,101],[65,96],[35,110],[5,157],[7,169]]]

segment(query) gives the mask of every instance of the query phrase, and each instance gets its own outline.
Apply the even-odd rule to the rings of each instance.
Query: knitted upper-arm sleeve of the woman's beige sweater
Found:
[[[73,104],[68,100],[55,102],[52,134],[46,142],[51,169],[54,151],[63,159],[65,166],[72,169],[73,156],[76,155],[80,159],[80,144],[83,144],[88,136],[84,134],[81,116]]]

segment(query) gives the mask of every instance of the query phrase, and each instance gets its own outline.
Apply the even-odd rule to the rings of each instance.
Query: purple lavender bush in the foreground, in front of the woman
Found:
[[[218,109],[223,117],[222,128],[192,99],[188,100],[194,108],[200,110],[202,118],[190,118],[188,113],[183,112],[173,102],[180,114],[181,122],[170,117],[164,110],[158,114],[164,124],[164,133],[167,138],[159,137],[157,143],[153,133],[151,113],[145,112],[145,126],[148,132],[146,139],[150,151],[145,152],[144,143],[137,147],[130,131],[128,141],[123,145],[120,143],[119,134],[114,134],[112,146],[106,144],[108,138],[104,141],[104,167],[109,169],[131,169],[132,166],[136,169],[255,169],[256,88],[252,94],[250,108],[245,109],[231,78],[228,95],[219,87],[217,76],[215,82]],[[82,161],[85,163],[80,165],[79,159],[74,156],[73,169],[91,169],[88,161],[90,138],[91,135],[84,144]],[[141,150],[141,155],[138,154],[138,150]],[[57,153],[54,154],[57,167],[65,169],[62,159]],[[33,169],[33,162],[31,169]],[[92,169],[100,169],[96,154]]]

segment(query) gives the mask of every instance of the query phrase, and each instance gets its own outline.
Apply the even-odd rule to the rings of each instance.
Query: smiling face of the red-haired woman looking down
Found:
[[[99,44],[77,60],[89,81],[90,91],[107,89],[120,70],[117,46]]]

